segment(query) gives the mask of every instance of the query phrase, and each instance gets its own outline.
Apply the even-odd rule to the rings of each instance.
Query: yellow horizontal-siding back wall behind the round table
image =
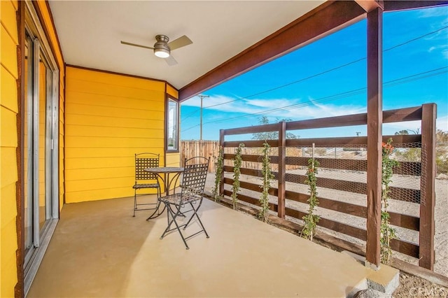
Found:
[[[66,203],[134,195],[134,154],[164,160],[165,83],[66,68]]]

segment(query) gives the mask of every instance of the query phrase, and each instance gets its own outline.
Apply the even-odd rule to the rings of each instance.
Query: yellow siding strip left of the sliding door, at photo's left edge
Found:
[[[15,183],[18,181],[16,118],[18,114],[18,30],[15,12],[17,1],[0,1],[0,296],[14,297],[17,284],[15,252],[17,216]]]

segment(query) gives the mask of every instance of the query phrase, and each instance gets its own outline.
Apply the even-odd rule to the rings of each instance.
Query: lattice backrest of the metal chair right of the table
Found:
[[[209,162],[210,158],[206,157],[186,159],[182,176],[181,197],[183,199],[202,198],[209,171]]]

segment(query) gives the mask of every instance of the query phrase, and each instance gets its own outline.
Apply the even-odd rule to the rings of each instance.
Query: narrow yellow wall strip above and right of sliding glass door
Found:
[[[38,1],[38,7],[41,10],[43,25],[48,29],[48,38],[55,47],[55,59],[59,68],[59,210],[64,204],[64,59],[62,59],[62,50],[57,43],[57,34],[52,27],[50,11],[44,0]]]

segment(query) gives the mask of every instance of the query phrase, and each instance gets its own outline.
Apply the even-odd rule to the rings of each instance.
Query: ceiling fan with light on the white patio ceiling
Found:
[[[171,55],[172,50],[176,50],[193,43],[193,41],[191,41],[190,38],[188,38],[186,35],[174,39],[174,41],[172,41],[171,43],[168,43],[168,36],[162,34],[156,35],[155,40],[156,43],[154,43],[153,47],[148,47],[146,45],[137,45],[136,43],[128,43],[127,41],[121,41],[121,43],[123,43],[123,45],[132,45],[134,47],[154,50],[154,55],[160,58],[165,58],[165,61],[169,66],[177,64],[176,59],[174,59],[174,57]]]

